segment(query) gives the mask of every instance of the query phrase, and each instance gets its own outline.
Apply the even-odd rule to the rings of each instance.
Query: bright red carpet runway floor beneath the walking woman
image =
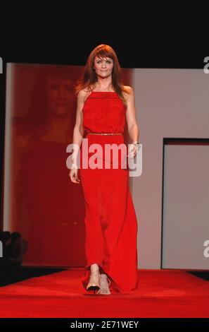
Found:
[[[190,273],[139,270],[137,290],[93,295],[72,268],[0,287],[0,317],[209,317],[209,283]]]

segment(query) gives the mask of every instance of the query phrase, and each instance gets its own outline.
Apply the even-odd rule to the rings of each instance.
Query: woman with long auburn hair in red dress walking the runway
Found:
[[[122,152],[120,166],[113,168],[115,159],[105,149],[108,144],[125,145],[122,133],[126,118],[132,144],[125,157],[134,158],[139,148],[139,128],[134,90],[120,82],[120,64],[110,46],[99,45],[93,49],[76,92],[73,143],[81,148],[73,150],[70,179],[82,184],[86,208],[87,265],[82,285],[102,295],[109,295],[110,290],[134,290],[137,287],[137,217],[129,192],[128,169],[124,167]],[[88,146],[101,146],[96,155],[99,167],[83,167],[86,155],[83,138],[87,138]],[[91,164],[92,157],[94,153],[88,151],[87,161]],[[104,163],[108,167],[104,168]]]

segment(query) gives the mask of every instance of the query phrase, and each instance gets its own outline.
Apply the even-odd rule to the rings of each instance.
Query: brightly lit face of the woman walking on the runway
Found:
[[[94,69],[97,76],[100,76],[101,78],[106,78],[112,74],[113,71],[113,59],[109,57],[94,58]]]

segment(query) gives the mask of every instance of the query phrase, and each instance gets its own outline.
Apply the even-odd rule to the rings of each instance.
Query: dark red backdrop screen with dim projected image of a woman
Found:
[[[70,66],[25,66],[15,67],[15,95],[35,79],[30,83],[28,108],[27,102],[19,105],[15,99],[12,114],[11,230],[27,241],[24,263],[80,266],[85,261],[84,197],[80,186],[66,181],[65,160],[75,126],[75,82],[81,71]],[[24,80],[23,73],[28,73]],[[24,85],[19,88],[20,84]],[[18,117],[20,107],[23,117]]]

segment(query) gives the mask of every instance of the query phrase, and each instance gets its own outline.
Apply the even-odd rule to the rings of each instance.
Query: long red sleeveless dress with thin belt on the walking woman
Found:
[[[116,292],[134,290],[137,287],[137,216],[129,191],[129,170],[120,165],[113,168],[113,159],[104,155],[105,143],[125,143],[123,135],[88,135],[94,133],[123,133],[125,106],[115,92],[93,91],[82,109],[84,138],[88,146],[99,143],[104,160],[110,168],[84,169],[84,141],[80,148],[80,179],[85,203],[85,254],[87,263],[82,275],[86,289],[90,266],[97,263],[110,278],[110,290]],[[94,155],[87,154],[87,160]],[[98,157],[100,158],[100,157]],[[103,166],[104,167],[104,166]]]

